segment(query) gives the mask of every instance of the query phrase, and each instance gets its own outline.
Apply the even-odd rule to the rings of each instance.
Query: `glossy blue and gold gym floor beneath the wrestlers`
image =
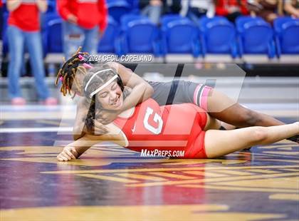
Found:
[[[267,106],[260,108],[267,113]],[[298,120],[298,111],[273,107],[268,113],[285,123]],[[61,120],[63,113],[59,106],[1,107],[1,221],[299,218],[296,143],[202,160],[141,158],[106,143],[58,162],[72,140],[73,116]]]

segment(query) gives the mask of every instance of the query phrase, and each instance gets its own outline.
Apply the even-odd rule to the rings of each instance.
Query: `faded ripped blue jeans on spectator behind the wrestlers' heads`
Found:
[[[82,46],[82,51],[96,54],[98,51],[99,31],[98,26],[93,29],[83,29],[80,26],[63,21],[63,53],[65,58],[70,58]]]

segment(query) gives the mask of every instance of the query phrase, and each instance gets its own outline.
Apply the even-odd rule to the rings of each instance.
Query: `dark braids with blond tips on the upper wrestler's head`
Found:
[[[65,61],[65,58],[63,58],[63,66],[58,71],[55,84],[57,86],[59,81],[62,82],[61,93],[63,93],[63,96],[65,96],[66,93],[71,94],[70,90],[73,86],[73,83],[75,83],[75,86],[76,88],[78,88],[79,92],[82,93],[82,83],[76,80],[75,75],[76,73],[83,73],[84,75],[86,75],[86,65],[88,65],[88,63],[95,63],[93,61],[85,61],[84,58],[85,56],[88,56],[88,53],[80,52],[80,50],[81,47],[78,48],[78,50],[73,54],[73,56],[70,59],[68,59],[68,61]],[[91,66],[89,66],[88,68],[91,68]],[[75,93],[73,94],[73,98],[74,97]]]

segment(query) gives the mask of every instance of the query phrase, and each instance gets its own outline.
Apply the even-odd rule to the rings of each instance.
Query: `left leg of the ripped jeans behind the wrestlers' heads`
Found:
[[[85,35],[83,29],[68,21],[63,21],[63,53],[65,59],[73,56],[80,46],[83,46]]]

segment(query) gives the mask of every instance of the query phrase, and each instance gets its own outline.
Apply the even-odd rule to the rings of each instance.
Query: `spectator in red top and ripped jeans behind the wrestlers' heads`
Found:
[[[98,41],[107,26],[105,0],[57,0],[63,18],[63,53],[70,58],[79,46],[97,53]]]

